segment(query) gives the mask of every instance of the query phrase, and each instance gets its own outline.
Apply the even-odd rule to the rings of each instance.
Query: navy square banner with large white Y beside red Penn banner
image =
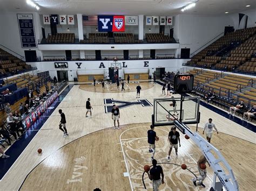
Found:
[[[112,15],[98,15],[98,31],[112,32],[113,16]]]

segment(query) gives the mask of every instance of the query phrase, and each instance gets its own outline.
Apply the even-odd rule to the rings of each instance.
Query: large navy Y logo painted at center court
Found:
[[[117,105],[117,103],[120,103],[120,105]],[[129,102],[129,101],[120,101],[120,100],[113,100],[112,99],[104,99],[105,104],[105,113],[111,113],[113,104],[116,104],[119,109],[130,107],[131,105],[142,105],[143,107],[150,107],[153,106],[149,101],[147,100],[138,100],[137,102]],[[111,104],[111,105],[107,105]]]

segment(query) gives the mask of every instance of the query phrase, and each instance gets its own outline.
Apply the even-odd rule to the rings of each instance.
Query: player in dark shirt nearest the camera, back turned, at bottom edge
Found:
[[[160,165],[157,165],[157,160],[152,160],[153,167],[150,169],[149,172],[146,172],[149,176],[149,179],[152,180],[152,186],[154,191],[158,191],[159,186],[161,183],[164,184],[164,172],[163,168]],[[162,179],[160,178],[162,176]]]

